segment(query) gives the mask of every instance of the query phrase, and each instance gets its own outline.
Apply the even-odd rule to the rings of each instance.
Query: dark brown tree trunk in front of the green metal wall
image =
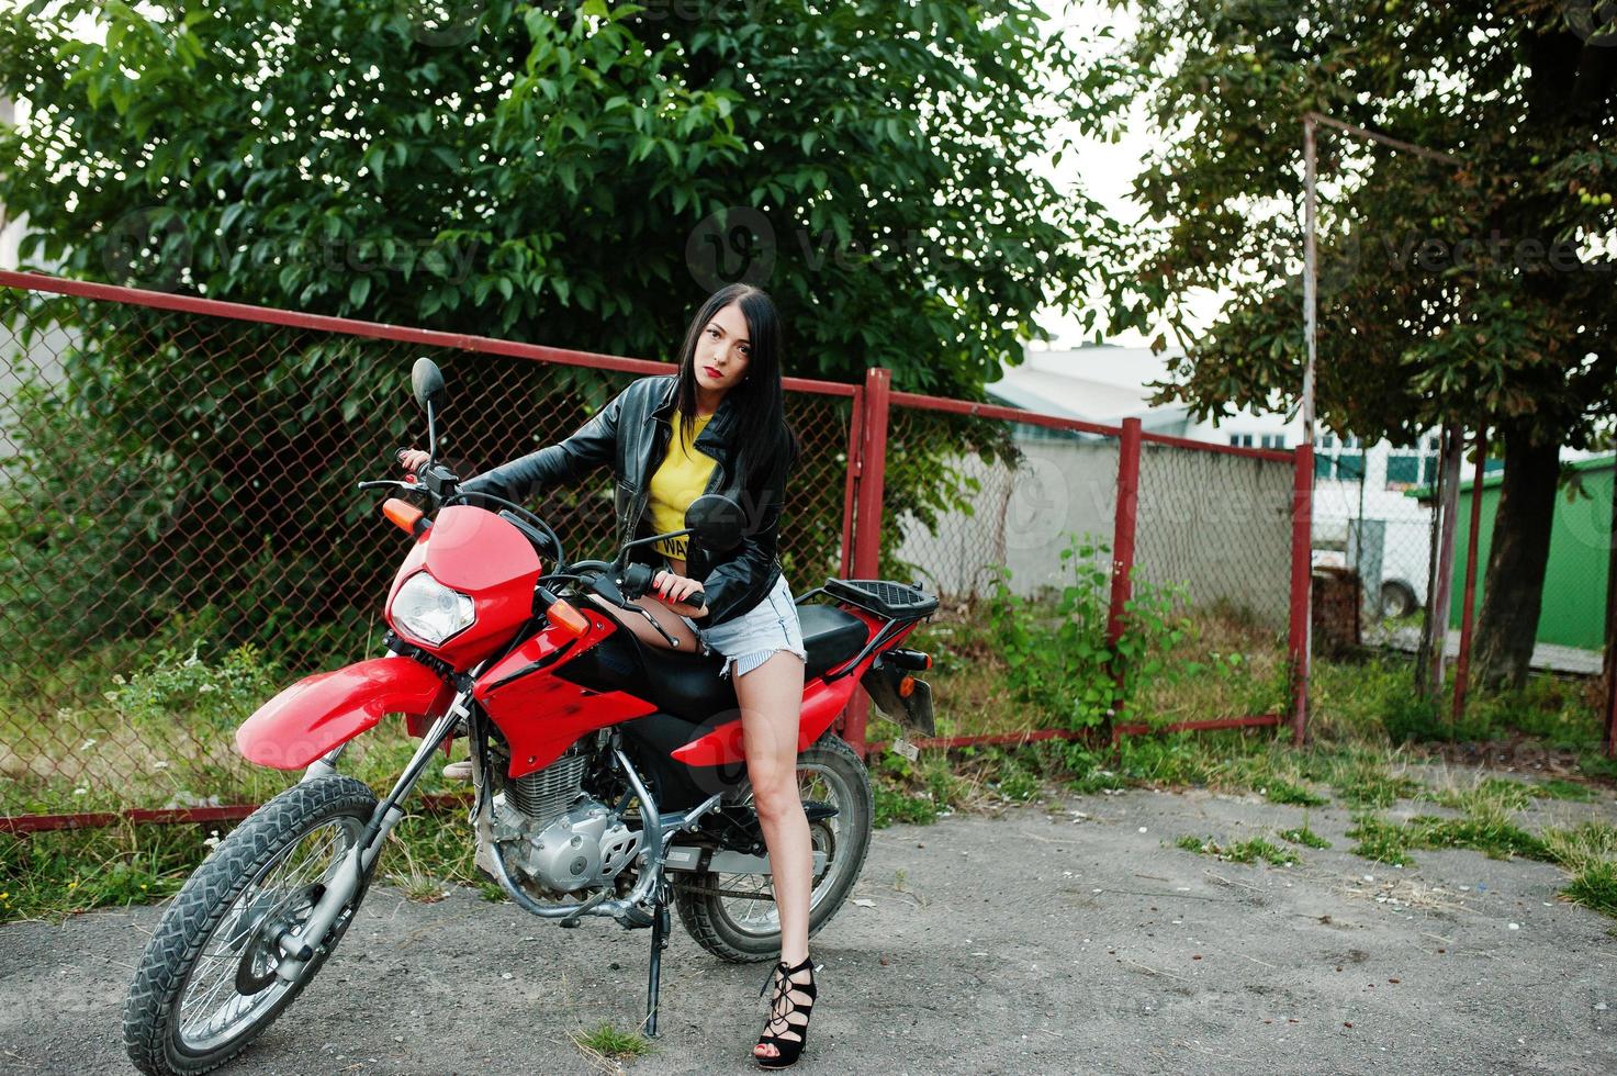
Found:
[[[1533,443],[1522,427],[1505,427],[1504,440],[1505,472],[1476,623],[1476,680],[1488,689],[1518,688],[1526,680],[1560,474],[1559,447]]]

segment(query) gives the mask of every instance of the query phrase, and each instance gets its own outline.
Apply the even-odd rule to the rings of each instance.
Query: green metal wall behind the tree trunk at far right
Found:
[[[1573,482],[1556,495],[1556,521],[1544,573],[1544,607],[1538,641],[1599,650],[1606,646],[1606,571],[1612,542],[1612,476],[1617,458],[1580,461]],[[1488,549],[1499,510],[1499,479],[1483,481],[1483,526],[1476,560],[1476,608],[1483,608]],[[1460,626],[1465,595],[1465,549],[1471,531],[1471,484],[1460,485],[1460,519],[1454,545],[1454,604],[1450,625]]]

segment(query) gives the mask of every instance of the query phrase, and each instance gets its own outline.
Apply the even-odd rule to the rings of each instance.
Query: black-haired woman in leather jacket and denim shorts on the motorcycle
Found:
[[[736,500],[750,519],[734,550],[708,553],[700,545],[687,549],[686,539],[671,539],[631,552],[661,566],[653,579],[657,597],[639,604],[681,650],[700,647],[724,655],[721,675],[733,678],[741,704],[747,777],[781,917],[781,960],[770,972],[770,1023],[754,1047],[763,1068],[797,1061],[817,993],[808,960],[812,848],[797,790],[807,654],[797,607],[775,555],[786,476],[797,458],[797,438],[783,413],[781,349],[781,324],[770,296],[749,285],[721,288],[686,330],[679,374],[642,377],[559,445],[461,485],[466,492],[522,500],[542,485],[574,481],[592,466],[613,463],[619,540],[629,532],[684,529],[686,508],[707,490],[739,494]],[[666,440],[652,434],[657,424],[669,427]],[[668,445],[665,453],[642,458],[657,456],[658,443]],[[427,453],[407,451],[401,461],[414,471]],[[686,602],[697,591],[705,595],[700,607]],[[623,623],[642,642],[668,647],[639,616]]]

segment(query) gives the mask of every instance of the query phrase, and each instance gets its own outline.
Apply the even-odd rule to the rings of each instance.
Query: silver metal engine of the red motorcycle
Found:
[[[569,752],[508,780],[493,798],[493,838],[506,864],[556,893],[611,882],[640,851],[640,832],[584,793],[589,757]]]

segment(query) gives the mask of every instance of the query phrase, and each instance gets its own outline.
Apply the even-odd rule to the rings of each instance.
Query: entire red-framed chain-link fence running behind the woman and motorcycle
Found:
[[[563,440],[668,369],[66,282],[0,288],[0,815],[74,817],[205,812],[285,785],[231,733],[286,683],[382,650],[406,539],[354,487],[425,440],[417,356],[445,372],[440,456],[459,474]],[[804,456],[781,560],[797,592],[859,561],[939,594],[917,636],[939,659],[939,731],[1053,727],[1014,701],[983,634],[1006,594],[1082,610],[1091,663],[1124,625],[1156,625],[1151,675],[1108,723],[1281,720],[1289,453],[872,385],[787,380]],[[852,508],[873,476],[867,532]],[[532,506],[569,555],[611,552],[605,474]],[[361,777],[411,746],[399,722],[364,741]]]

